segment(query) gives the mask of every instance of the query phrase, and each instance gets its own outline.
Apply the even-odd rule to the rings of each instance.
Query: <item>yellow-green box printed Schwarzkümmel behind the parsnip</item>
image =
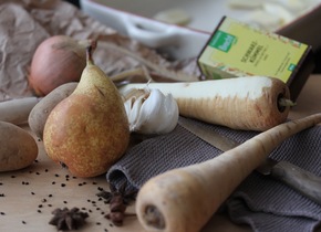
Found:
[[[198,66],[208,80],[277,77],[289,85],[296,99],[310,75],[309,70],[302,72],[310,53],[308,44],[224,17],[198,56]]]

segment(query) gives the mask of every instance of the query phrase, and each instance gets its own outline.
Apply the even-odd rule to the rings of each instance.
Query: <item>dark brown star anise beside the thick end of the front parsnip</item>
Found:
[[[111,220],[113,224],[121,226],[126,215],[127,205],[135,200],[137,191],[125,191],[126,184],[121,186],[120,189],[116,189],[114,186],[111,186],[111,192],[101,191],[97,193],[97,197],[102,197],[110,204],[110,213],[105,215],[106,219]]]

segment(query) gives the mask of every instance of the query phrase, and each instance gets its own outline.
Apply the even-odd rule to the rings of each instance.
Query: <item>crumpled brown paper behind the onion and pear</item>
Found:
[[[100,23],[69,2],[0,0],[0,102],[32,95],[28,85],[32,55],[43,40],[55,34],[79,40],[103,36],[99,41],[94,60],[107,75],[142,66],[142,63],[115,49],[104,46],[104,43],[125,48],[165,67],[198,72],[196,62],[169,62],[137,41],[121,36],[114,29]]]

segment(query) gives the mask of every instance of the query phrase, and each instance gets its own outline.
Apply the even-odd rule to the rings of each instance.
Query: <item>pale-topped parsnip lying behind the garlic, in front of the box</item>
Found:
[[[286,122],[288,86],[277,78],[249,76],[227,80],[128,84],[120,88],[158,88],[177,101],[179,114],[234,129],[263,131]],[[286,104],[284,104],[286,103]]]

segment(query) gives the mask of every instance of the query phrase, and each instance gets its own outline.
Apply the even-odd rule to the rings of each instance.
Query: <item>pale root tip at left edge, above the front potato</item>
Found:
[[[14,125],[28,122],[32,108],[39,103],[39,97],[23,97],[0,103],[0,120]]]

